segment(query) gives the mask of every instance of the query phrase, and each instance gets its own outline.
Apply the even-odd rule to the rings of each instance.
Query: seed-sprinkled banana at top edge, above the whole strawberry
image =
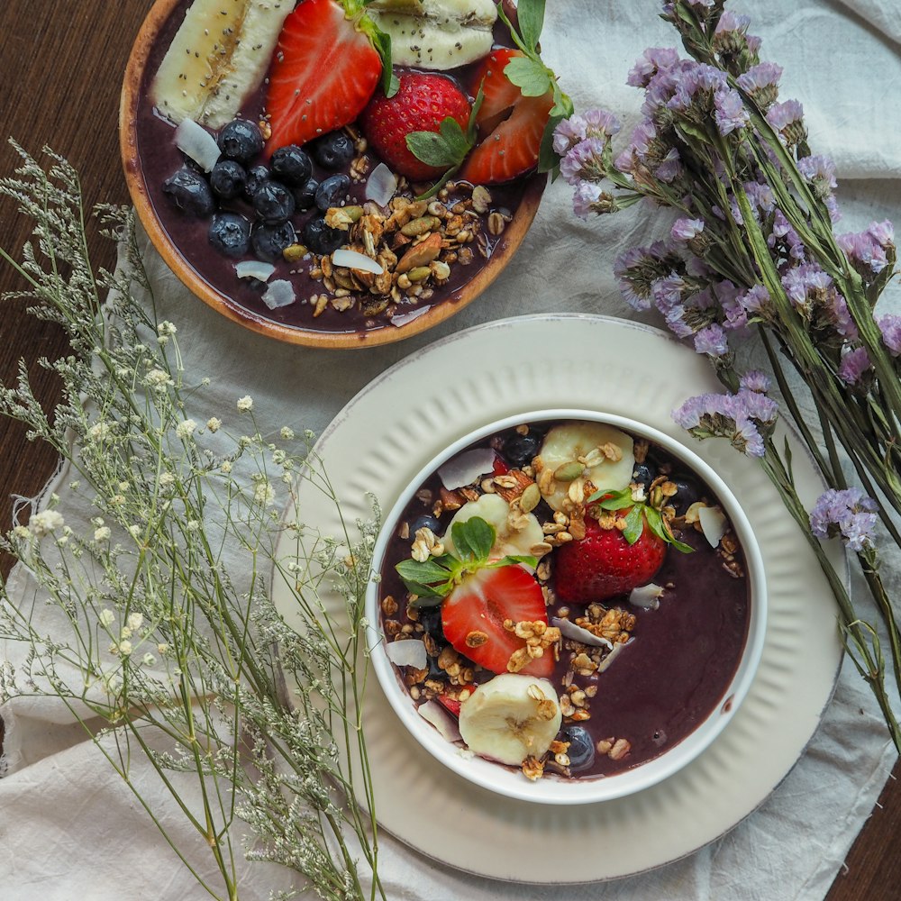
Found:
[[[492,0],[378,0],[367,13],[390,35],[396,66],[438,71],[487,56],[497,19]]]

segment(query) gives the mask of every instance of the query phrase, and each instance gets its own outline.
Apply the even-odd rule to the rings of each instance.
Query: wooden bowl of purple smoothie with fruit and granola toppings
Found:
[[[505,268],[546,183],[559,89],[509,80],[541,66],[517,27],[492,0],[157,0],[120,114],[141,224],[278,340],[431,328]]]

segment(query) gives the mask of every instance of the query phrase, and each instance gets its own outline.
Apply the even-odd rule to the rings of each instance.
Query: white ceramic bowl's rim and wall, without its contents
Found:
[[[476,432],[469,432],[461,436],[458,441],[442,451],[416,475],[403,494],[397,498],[390,513],[387,514],[373,551],[373,569],[378,572],[381,568],[388,543],[396,531],[396,524],[415,491],[441,464],[465,450],[473,442],[495,432],[501,432],[519,423],[537,423],[549,420],[586,420],[607,423],[622,429],[623,432],[630,432],[646,438],[694,471],[698,478],[710,487],[723,506],[744,553],[746,578],[750,587],[750,620],[741,660],[730,684],[725,688],[720,702],[714,706],[712,712],[681,742],[671,746],[659,757],[636,765],[633,769],[626,769],[613,776],[596,778],[561,778],[549,773],[538,781],[531,782],[523,777],[518,769],[461,753],[460,747],[444,739],[431,724],[417,713],[413,698],[402,684],[398,670],[388,660],[385,651],[384,634],[379,625],[378,585],[375,583],[369,586],[366,598],[366,616],[370,623],[367,641],[378,683],[397,714],[399,725],[405,728],[443,766],[500,795],[539,804],[590,804],[632,795],[668,778],[695,760],[724,730],[748,693],[760,663],[767,619],[766,579],[764,578],[760,548],[751,531],[751,524],[729,487],[704,460],[697,457],[684,444],[643,423],[623,416],[571,409],[517,414],[499,422],[489,423]]]

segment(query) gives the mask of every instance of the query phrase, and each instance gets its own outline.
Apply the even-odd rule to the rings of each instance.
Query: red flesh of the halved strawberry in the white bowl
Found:
[[[464,578],[441,605],[444,637],[456,651],[494,673],[505,673],[514,651],[525,646],[523,639],[504,628],[505,620],[548,622],[542,588],[521,566],[479,569]],[[548,677],[553,669],[549,650],[521,672]]]

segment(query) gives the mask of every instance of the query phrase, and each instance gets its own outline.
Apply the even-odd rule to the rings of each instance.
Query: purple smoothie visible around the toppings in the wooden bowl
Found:
[[[359,309],[359,305],[355,305],[344,312],[339,312],[332,308],[331,305],[327,305],[323,313],[314,318],[313,307],[306,301],[311,296],[327,292],[325,292],[321,281],[310,278],[308,274],[312,265],[310,257],[294,263],[288,263],[284,259],[278,259],[274,262],[276,271],[269,278],[269,281],[277,279],[289,280],[295,287],[297,301],[292,305],[270,310],[261,299],[265,286],[254,284],[250,279],[239,279],[234,271],[234,265],[239,260],[223,256],[210,245],[207,237],[210,218],[198,219],[182,214],[163,195],[163,182],[176,172],[178,168],[185,165],[185,157],[175,145],[174,124],[159,114],[156,108],[146,102],[144,98],[150,94],[150,83],[159,68],[159,63],[168,45],[171,43],[178,26],[184,18],[187,5],[187,0],[183,4],[177,5],[161,27],[153,48],[150,50],[141,80],[140,96],[143,102],[139,105],[134,123],[138,166],[141,170],[141,177],[153,215],[156,217],[166,238],[194,271],[196,277],[202,279],[208,287],[220,295],[223,301],[241,318],[277,323],[287,328],[301,329],[308,332],[353,334],[357,332],[373,332],[381,329],[397,329],[398,326],[392,324],[386,315],[379,314],[377,317],[367,317]],[[499,37],[497,32],[496,37]],[[503,43],[503,41],[498,42]],[[507,43],[509,44],[509,42]],[[458,77],[460,84],[465,86],[469,83],[468,76],[471,74],[472,68],[474,67],[462,68],[442,74]],[[398,69],[398,71],[400,70]],[[263,113],[265,94],[266,87],[264,84],[254,96],[248,98],[241,109],[240,117],[254,122],[258,121]],[[371,150],[367,152],[367,156],[370,161],[369,171],[371,171],[376,167],[379,159]],[[265,161],[264,155],[260,154],[258,159],[250,162],[248,168]],[[346,167],[339,171],[346,173],[349,171],[349,168]],[[326,171],[314,162],[313,177],[316,180],[321,181],[323,177],[328,177],[332,174],[334,174],[332,170]],[[489,191],[492,196],[491,209],[504,209],[510,214],[515,214],[523,201],[523,196],[540,194],[545,182],[545,176],[534,175],[509,185],[490,186]],[[362,205],[365,202],[365,190],[365,181],[351,181],[346,203],[348,205]],[[451,197],[453,196],[451,195]],[[452,203],[453,200],[451,199],[449,205],[452,205]],[[217,209],[240,213],[250,219],[251,222],[254,221],[250,203],[242,199],[224,202],[217,201],[217,204]],[[321,213],[314,209],[292,216],[292,222],[295,223],[298,233],[298,240],[303,241],[303,228],[306,221],[318,215],[321,215]],[[492,236],[487,232],[487,229],[484,231],[488,238],[487,259],[478,253],[475,245],[472,245],[475,250],[475,258],[469,266],[454,264],[451,267],[451,278],[445,284],[434,287],[432,297],[421,302],[414,297],[411,297],[408,301],[405,299],[400,305],[397,305],[396,314],[405,317],[406,314],[414,314],[419,311],[424,312],[436,305],[458,303],[463,288],[486,266],[488,259],[503,252],[507,247],[504,232],[499,236]],[[250,254],[243,259],[255,258]],[[375,299],[374,295],[364,295],[362,297],[363,299]]]

